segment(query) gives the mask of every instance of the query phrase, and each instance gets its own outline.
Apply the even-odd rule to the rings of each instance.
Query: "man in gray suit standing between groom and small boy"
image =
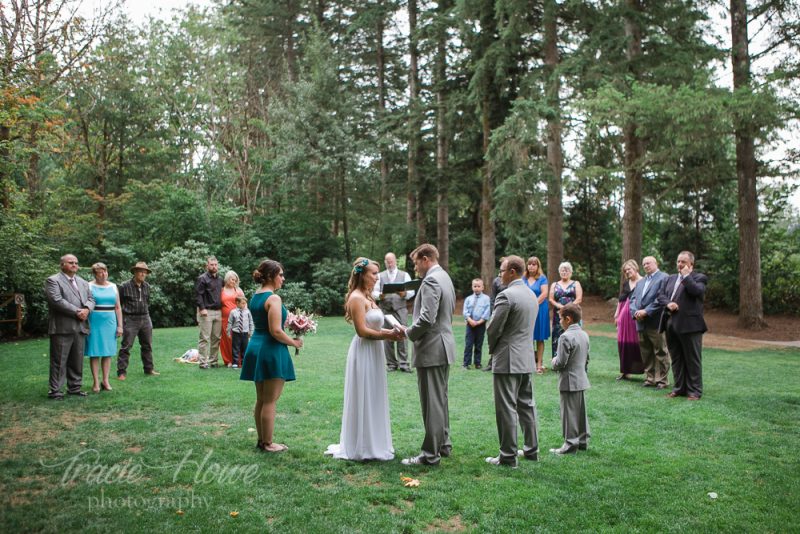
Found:
[[[525,439],[521,455],[539,459],[536,435],[536,403],[533,400],[533,326],[539,304],[522,282],[525,262],[507,256],[500,264],[500,277],[507,286],[495,299],[489,321],[489,353],[494,379],[494,413],[500,437],[500,455],[486,458],[493,465],[517,466],[517,423]]]

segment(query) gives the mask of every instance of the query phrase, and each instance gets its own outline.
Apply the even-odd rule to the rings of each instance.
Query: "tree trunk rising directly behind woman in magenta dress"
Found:
[[[642,28],[636,16],[642,11],[641,0],[625,0],[625,37],[628,41],[626,56],[630,74],[637,78],[637,61],[642,55]],[[622,261],[642,257],[642,158],[644,143],[636,134],[636,122],[629,119],[623,126],[625,146],[625,196],[622,216]]]

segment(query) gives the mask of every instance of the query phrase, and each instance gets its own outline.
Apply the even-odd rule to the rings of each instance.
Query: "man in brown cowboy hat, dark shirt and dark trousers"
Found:
[[[119,301],[122,305],[122,346],[117,358],[117,378],[125,380],[128,374],[128,358],[136,336],[142,350],[144,374],[158,376],[153,368],[153,322],[150,321],[150,284],[144,281],[150,269],[143,261],[131,268],[133,278],[119,286]]]

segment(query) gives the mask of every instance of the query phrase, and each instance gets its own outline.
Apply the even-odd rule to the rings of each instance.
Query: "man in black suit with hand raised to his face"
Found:
[[[678,274],[671,275],[658,303],[664,306],[659,332],[666,332],[672,357],[675,385],[667,397],[685,396],[700,400],[703,395],[703,333],[708,330],[703,319],[703,298],[708,277],[694,270],[694,254],[678,254]]]

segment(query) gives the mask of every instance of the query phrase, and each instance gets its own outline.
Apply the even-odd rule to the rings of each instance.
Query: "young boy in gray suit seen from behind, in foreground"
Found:
[[[564,444],[550,449],[554,454],[572,454],[585,451],[589,439],[589,418],[586,416],[586,399],[583,392],[589,389],[589,336],[581,329],[581,307],[567,304],[561,308],[561,328],[564,333],[558,341],[558,353],[552,367],[558,371],[558,389],[561,397],[561,429]]]

